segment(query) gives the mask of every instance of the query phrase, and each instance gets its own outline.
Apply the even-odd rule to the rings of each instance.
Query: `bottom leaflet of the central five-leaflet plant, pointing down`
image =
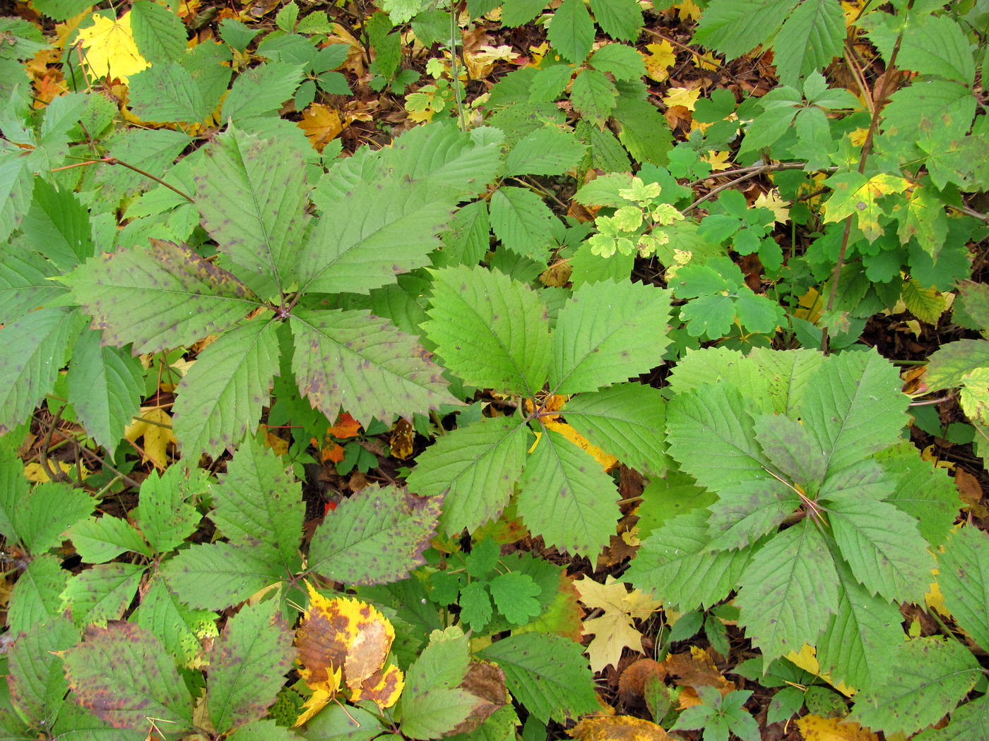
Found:
[[[618,493],[589,454],[544,430],[519,483],[518,514],[533,535],[568,553],[594,558],[615,533]]]

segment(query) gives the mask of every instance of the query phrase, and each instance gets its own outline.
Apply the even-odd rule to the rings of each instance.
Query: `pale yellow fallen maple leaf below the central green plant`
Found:
[[[629,592],[624,582],[617,582],[611,576],[604,584],[584,577],[574,582],[574,586],[587,608],[604,613],[584,620],[584,635],[594,634],[586,649],[592,671],[600,672],[608,664],[617,666],[626,646],[642,652],[642,633],[635,629],[632,619],[651,616],[661,604],[658,600],[637,589]]]

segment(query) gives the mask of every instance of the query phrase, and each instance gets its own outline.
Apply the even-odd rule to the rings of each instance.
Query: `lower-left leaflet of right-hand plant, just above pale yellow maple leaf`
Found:
[[[643,540],[624,579],[687,612],[709,608],[738,585],[751,550],[711,552],[706,510],[668,521]]]

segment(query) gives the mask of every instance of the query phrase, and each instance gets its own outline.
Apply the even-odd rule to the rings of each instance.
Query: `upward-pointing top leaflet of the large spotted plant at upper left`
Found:
[[[205,149],[196,205],[222,252],[285,291],[298,278],[310,185],[302,156],[283,149],[272,157],[277,148],[272,139],[228,128]]]

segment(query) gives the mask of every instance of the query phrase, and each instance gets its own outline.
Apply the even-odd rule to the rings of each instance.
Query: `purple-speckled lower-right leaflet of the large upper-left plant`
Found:
[[[415,338],[385,319],[368,311],[296,309],[289,321],[299,391],[330,419],[341,406],[367,424],[460,404]]]

